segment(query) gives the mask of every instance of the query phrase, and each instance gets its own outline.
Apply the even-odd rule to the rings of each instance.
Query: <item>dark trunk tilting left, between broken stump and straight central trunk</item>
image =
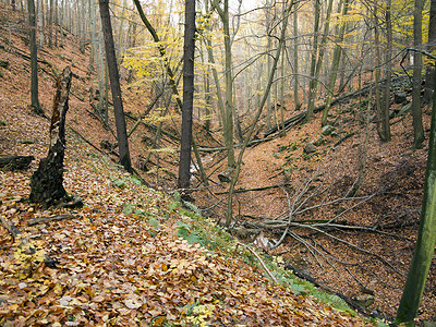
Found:
[[[110,24],[109,1],[99,0],[98,3],[100,7],[100,17],[105,37],[106,61],[109,69],[110,88],[112,92],[113,110],[116,116],[120,164],[126,171],[132,172],[133,170],[129,153],[128,131],[121,99],[120,74],[117,66],[116,47],[113,45],[112,26]]]

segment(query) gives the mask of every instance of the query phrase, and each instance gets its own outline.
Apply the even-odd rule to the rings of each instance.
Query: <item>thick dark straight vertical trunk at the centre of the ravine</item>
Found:
[[[195,0],[185,1],[183,46],[183,110],[182,140],[180,142],[180,189],[189,189],[191,180],[192,111],[194,101]]]

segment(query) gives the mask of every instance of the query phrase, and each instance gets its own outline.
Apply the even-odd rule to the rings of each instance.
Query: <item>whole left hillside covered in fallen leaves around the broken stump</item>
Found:
[[[10,12],[1,14],[15,22]],[[14,25],[11,43],[4,26],[0,153],[35,160],[28,170],[0,171],[1,221],[20,231],[13,240],[0,228],[1,326],[372,325],[291,274],[271,272],[271,281],[266,271],[278,263],[253,254],[195,207],[183,208],[177,194],[172,199],[124,173],[94,146],[111,137],[110,130],[87,109],[92,76],[70,35],[63,49],[39,56],[40,101],[49,114],[55,74],[71,65],[64,187],[83,205],[29,204],[31,175],[47,155],[49,120],[28,107],[29,62],[20,37],[25,27]]]

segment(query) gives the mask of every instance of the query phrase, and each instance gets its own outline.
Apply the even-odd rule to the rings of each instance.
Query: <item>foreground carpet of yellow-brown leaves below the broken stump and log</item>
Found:
[[[68,157],[75,159],[66,162],[66,189],[85,203],[72,211],[76,219],[26,227],[31,219],[66,210],[20,202],[28,196],[31,173],[1,172],[0,215],[58,261],[58,268],[50,269],[36,255],[23,259],[1,230],[2,326],[364,325],[311,296],[270,284],[238,256],[178,238],[175,222],[189,218],[105,159],[84,158],[73,149]],[[123,214],[128,204],[154,217],[154,223]]]

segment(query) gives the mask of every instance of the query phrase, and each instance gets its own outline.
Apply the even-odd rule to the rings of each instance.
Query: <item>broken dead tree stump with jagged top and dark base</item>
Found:
[[[50,206],[66,195],[63,189],[63,157],[65,150],[65,116],[72,72],[65,68],[58,76],[50,124],[50,148],[31,178],[32,203]]]

